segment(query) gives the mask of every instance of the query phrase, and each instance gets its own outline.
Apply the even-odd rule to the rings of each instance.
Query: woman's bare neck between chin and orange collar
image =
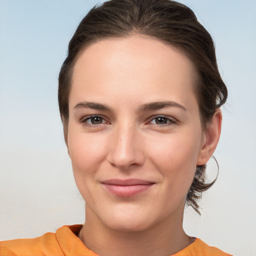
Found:
[[[171,255],[189,245],[193,238],[182,227],[179,218],[164,219],[141,231],[116,231],[104,225],[87,206],[79,237],[95,253],[102,256]]]

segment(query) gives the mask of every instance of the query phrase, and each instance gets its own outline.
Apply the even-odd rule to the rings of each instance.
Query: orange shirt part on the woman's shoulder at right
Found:
[[[232,256],[231,254],[225,253],[222,250],[209,246],[201,239],[196,238],[194,242],[188,245],[183,250],[173,254],[172,256]]]

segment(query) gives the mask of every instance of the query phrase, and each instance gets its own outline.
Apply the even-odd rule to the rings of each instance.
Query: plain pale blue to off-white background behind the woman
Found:
[[[67,44],[98,0],[0,0],[0,239],[82,223],[57,106]],[[255,255],[256,0],[183,0],[214,38],[229,91],[215,156],[220,170],[185,210],[190,235],[237,256]],[[210,175],[214,168],[209,166]]]

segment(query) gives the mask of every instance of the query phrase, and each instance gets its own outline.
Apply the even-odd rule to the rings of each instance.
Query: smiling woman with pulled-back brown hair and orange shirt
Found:
[[[186,235],[227,90],[209,33],[169,0],[110,0],[77,27],[58,101],[83,225],[0,244],[0,255],[229,255]]]

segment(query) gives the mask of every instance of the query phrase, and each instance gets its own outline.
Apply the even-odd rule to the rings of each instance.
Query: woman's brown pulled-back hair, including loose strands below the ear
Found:
[[[68,45],[58,79],[58,102],[64,134],[67,134],[68,96],[72,70],[85,46],[103,38],[141,34],[157,38],[184,53],[196,69],[196,97],[201,123],[211,121],[227,97],[218,72],[214,43],[193,11],[172,0],[109,0],[94,6],[81,20]],[[198,200],[212,182],[206,182],[206,165],[196,167],[186,202],[199,213]]]

